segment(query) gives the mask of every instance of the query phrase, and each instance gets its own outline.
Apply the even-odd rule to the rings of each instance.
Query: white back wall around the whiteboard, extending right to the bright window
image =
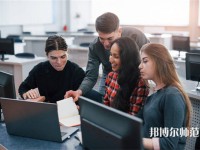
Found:
[[[0,25],[1,36],[21,34],[23,31],[32,34],[44,34],[45,31],[62,32],[64,25],[67,25],[68,31],[71,32],[86,28],[88,23],[91,23],[91,0],[53,0],[53,12],[51,24]]]

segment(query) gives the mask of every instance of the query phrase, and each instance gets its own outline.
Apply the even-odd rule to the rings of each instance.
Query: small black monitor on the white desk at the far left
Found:
[[[14,39],[0,38],[0,59],[2,61],[8,59],[5,58],[5,54],[14,55]]]

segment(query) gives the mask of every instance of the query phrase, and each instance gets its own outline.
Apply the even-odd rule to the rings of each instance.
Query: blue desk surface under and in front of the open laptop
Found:
[[[72,136],[63,143],[36,140],[31,138],[19,137],[14,135],[9,135],[6,131],[6,126],[4,123],[0,123],[0,144],[3,145],[8,150],[22,150],[22,149],[52,149],[52,150],[82,150],[80,142]]]

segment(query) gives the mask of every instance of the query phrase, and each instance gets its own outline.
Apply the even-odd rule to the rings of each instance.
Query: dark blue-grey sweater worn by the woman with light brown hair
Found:
[[[186,138],[180,135],[181,128],[186,126],[186,104],[182,94],[175,87],[166,87],[158,90],[147,98],[144,108],[137,114],[143,119],[143,134],[150,137],[151,128],[177,128],[178,135],[156,136],[159,138],[161,150],[183,150]],[[169,132],[170,133],[170,132]],[[172,132],[171,132],[172,133]],[[161,136],[161,137],[160,137]]]

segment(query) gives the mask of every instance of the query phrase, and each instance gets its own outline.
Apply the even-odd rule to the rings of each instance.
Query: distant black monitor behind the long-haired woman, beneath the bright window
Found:
[[[179,51],[178,58],[180,58],[181,51],[185,51],[185,52],[190,51],[190,37],[173,35],[172,36],[172,49]]]

